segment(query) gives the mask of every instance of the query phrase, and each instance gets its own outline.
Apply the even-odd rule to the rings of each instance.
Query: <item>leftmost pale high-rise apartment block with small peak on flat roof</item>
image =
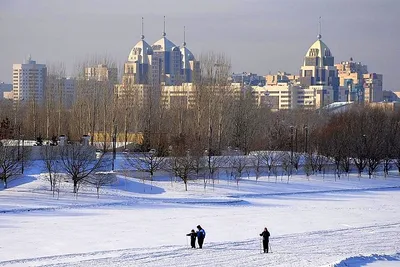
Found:
[[[43,101],[46,76],[46,65],[36,64],[31,57],[23,64],[13,64],[14,101]]]

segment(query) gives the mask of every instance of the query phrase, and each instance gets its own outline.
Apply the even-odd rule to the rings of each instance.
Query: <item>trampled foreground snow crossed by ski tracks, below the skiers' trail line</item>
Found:
[[[202,250],[186,246],[128,248],[11,260],[0,266],[352,266],[346,262],[367,257],[362,255],[372,255],[373,261],[395,254],[400,243],[392,237],[399,235],[400,222],[396,222],[272,237],[269,254],[260,253],[259,238],[215,243],[206,239]]]

